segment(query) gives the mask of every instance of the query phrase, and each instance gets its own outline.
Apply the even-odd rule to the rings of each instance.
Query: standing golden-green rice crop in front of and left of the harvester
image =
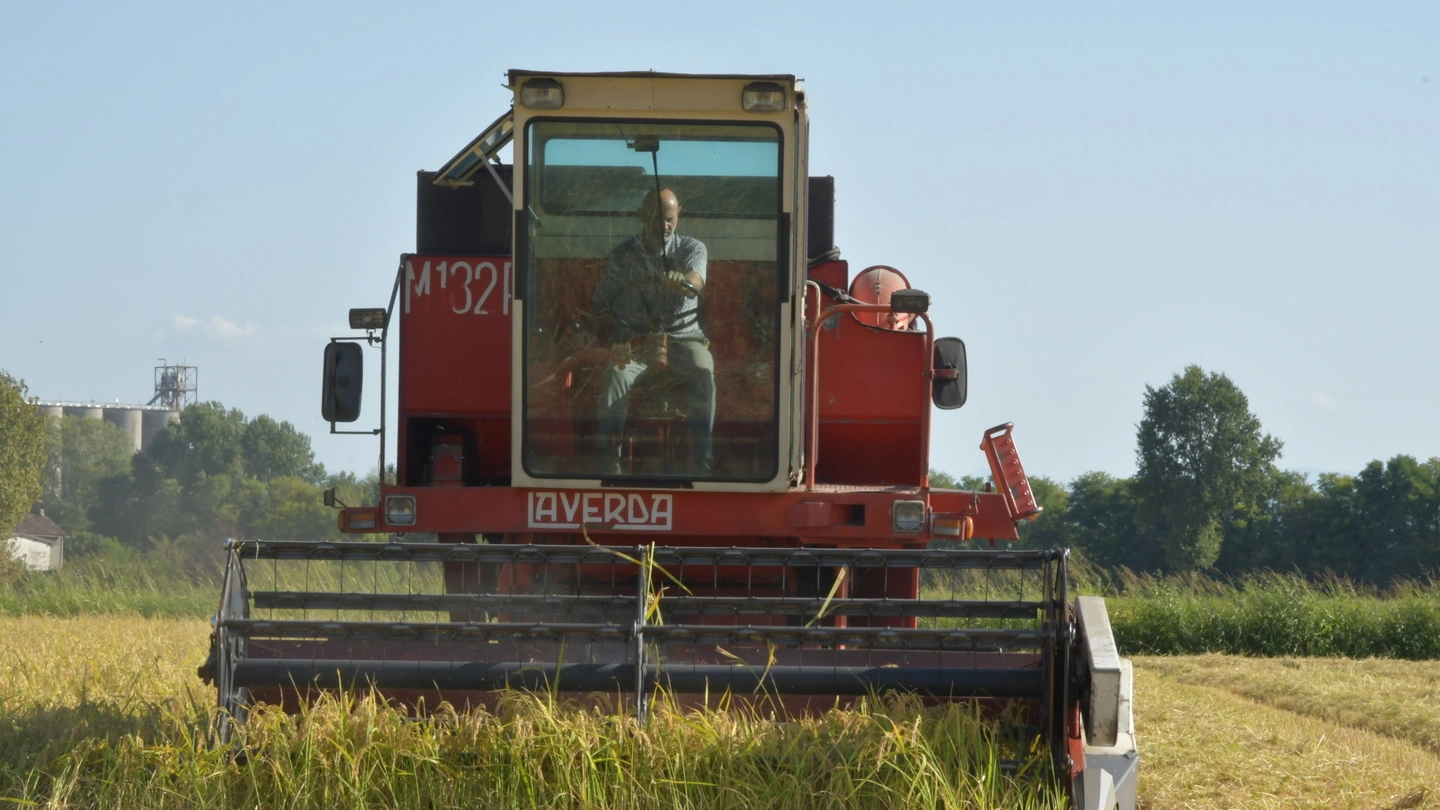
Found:
[[[660,702],[648,724],[543,696],[410,721],[366,698],[256,712],[209,742],[199,621],[0,618],[0,803],[36,807],[1058,809],[1002,773],[966,706],[883,700],[804,722]],[[1024,754],[1024,752],[1021,752]]]

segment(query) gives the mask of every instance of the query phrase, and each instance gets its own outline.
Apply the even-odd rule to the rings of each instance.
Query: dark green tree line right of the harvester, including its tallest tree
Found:
[[[1146,386],[1136,474],[1032,480],[1045,512],[1021,540],[1079,549],[1112,571],[1292,571],[1377,585],[1440,571],[1440,458],[1395,455],[1312,481],[1276,467],[1280,448],[1225,375],[1189,366]]]

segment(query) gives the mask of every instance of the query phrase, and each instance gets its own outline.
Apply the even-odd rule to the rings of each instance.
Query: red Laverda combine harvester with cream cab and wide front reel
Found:
[[[202,667],[225,716],[344,685],[641,715],[657,690],[904,690],[1011,706],[1077,807],[1135,807],[1104,604],[1071,601],[1064,551],[1005,551],[1040,513],[1009,425],[981,444],[994,490],[929,486],[965,344],[899,271],[851,278],[796,79],[508,78],[511,110],[419,174],[389,306],[325,347],[331,431],[379,434],[382,470],[393,432],[397,481],[374,507],[327,493],[357,542],[230,543]],[[337,431],[366,346],[380,427]]]

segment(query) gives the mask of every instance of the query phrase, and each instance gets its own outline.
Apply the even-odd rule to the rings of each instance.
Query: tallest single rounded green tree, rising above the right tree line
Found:
[[[1223,373],[1188,366],[1169,385],[1145,386],[1135,489],[1169,568],[1215,564],[1224,522],[1266,491],[1280,447]]]

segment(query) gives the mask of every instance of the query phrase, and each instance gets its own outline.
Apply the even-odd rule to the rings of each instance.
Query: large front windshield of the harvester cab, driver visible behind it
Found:
[[[533,121],[526,144],[526,471],[770,480],[779,130]]]

